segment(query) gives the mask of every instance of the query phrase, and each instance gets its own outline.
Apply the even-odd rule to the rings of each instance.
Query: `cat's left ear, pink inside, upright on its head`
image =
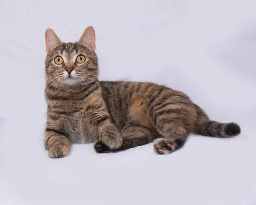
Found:
[[[54,48],[61,45],[61,40],[51,28],[47,28],[45,31],[45,43],[47,54],[50,54]]]

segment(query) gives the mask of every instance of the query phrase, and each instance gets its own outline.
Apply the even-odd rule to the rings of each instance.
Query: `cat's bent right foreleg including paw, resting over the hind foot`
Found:
[[[99,141],[103,142],[109,148],[116,149],[122,145],[122,137],[109,119],[100,123],[98,129]]]

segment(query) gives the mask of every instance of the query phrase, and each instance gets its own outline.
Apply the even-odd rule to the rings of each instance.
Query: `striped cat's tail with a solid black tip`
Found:
[[[233,137],[241,133],[241,129],[235,122],[221,123],[211,120],[201,121],[195,129],[195,134],[209,137]]]

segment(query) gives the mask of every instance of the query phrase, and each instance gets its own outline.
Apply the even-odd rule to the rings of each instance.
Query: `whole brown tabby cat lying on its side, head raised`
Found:
[[[234,122],[209,120],[186,94],[164,85],[98,80],[95,31],[84,30],[76,43],[62,43],[45,32],[47,122],[44,145],[49,157],[66,157],[73,143],[93,143],[97,153],[154,143],[157,154],[181,148],[189,133],[210,137],[240,134]]]

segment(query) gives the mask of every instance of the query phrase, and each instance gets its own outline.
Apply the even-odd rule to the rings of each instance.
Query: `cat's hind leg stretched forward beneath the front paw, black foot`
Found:
[[[122,151],[148,144],[154,139],[157,139],[159,135],[152,131],[151,128],[130,122],[123,128],[121,137],[122,145],[117,149],[110,149],[103,142],[96,142],[94,144],[94,149],[97,153]]]

